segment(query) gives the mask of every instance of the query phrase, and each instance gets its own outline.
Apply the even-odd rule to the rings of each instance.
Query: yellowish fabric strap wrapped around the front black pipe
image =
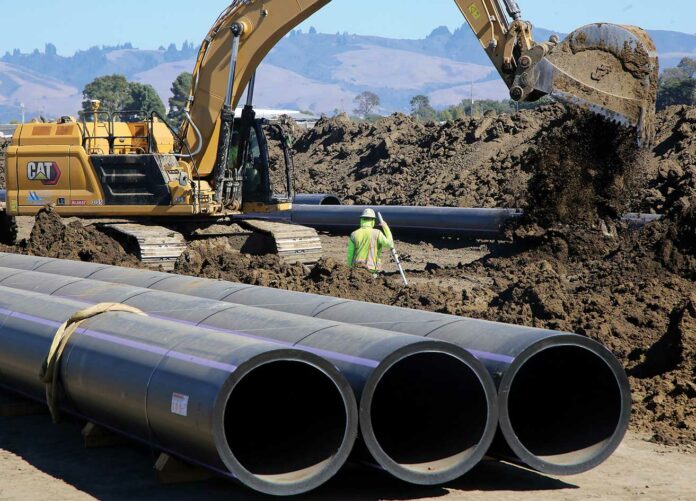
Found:
[[[88,320],[102,313],[107,313],[110,311],[121,311],[125,313],[135,313],[136,315],[147,316],[141,310],[133,308],[132,306],[126,306],[120,303],[100,303],[91,306],[87,309],[78,311],[67,321],[65,321],[53,337],[53,343],[51,344],[51,349],[46,355],[46,359],[41,365],[41,371],[39,372],[39,378],[41,382],[46,384],[46,402],[48,403],[48,408],[51,411],[51,416],[53,417],[53,422],[57,423],[60,420],[60,412],[58,406],[56,405],[57,400],[57,389],[60,380],[60,361],[63,351],[70,336],[80,327],[80,324],[85,320]]]

